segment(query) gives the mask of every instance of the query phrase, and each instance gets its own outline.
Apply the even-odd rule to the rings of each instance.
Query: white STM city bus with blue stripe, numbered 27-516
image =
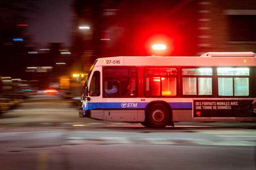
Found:
[[[177,122],[256,122],[256,54],[98,58],[79,117],[163,128]]]

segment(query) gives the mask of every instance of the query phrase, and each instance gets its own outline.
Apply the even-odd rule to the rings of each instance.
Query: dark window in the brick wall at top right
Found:
[[[256,41],[255,15],[230,15],[231,41]]]

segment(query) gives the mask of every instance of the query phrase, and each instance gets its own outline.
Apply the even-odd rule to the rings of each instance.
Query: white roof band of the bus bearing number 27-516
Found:
[[[256,57],[117,56],[98,58],[95,66],[256,66]]]

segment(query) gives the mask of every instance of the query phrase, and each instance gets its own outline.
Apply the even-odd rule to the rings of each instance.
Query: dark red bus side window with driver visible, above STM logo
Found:
[[[105,67],[104,96],[105,97],[135,97],[136,96],[136,68]]]

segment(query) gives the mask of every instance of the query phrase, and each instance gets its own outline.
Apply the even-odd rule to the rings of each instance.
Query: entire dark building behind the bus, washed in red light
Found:
[[[256,51],[256,2],[221,0],[101,0],[73,4],[73,54],[87,71],[96,58]],[[81,30],[79,26],[89,26]]]

